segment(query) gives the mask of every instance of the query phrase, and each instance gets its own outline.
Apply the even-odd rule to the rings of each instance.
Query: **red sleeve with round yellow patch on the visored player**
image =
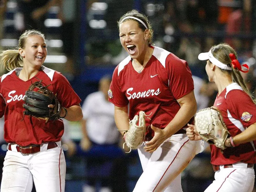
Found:
[[[256,105],[249,95],[242,90],[232,90],[227,96],[228,110],[244,127],[256,122]]]

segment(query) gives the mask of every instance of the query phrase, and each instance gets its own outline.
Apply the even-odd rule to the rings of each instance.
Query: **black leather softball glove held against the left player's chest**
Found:
[[[23,108],[24,115],[34,116],[46,120],[58,120],[60,118],[61,105],[52,91],[41,84],[42,80],[32,83],[25,93]],[[54,105],[49,108],[48,105]]]

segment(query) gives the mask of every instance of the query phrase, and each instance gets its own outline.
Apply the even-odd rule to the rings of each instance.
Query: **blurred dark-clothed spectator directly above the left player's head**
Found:
[[[58,0],[17,0],[18,9],[21,13],[20,19],[22,23],[17,26],[18,31],[23,32],[27,29],[37,29],[46,33],[44,20],[46,13],[55,5],[59,5]]]

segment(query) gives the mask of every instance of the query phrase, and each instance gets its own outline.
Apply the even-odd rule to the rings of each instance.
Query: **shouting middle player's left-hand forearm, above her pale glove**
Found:
[[[128,116],[128,106],[119,108],[115,106],[115,122],[116,127],[120,131],[120,133],[123,135],[125,130],[129,129],[129,116]]]

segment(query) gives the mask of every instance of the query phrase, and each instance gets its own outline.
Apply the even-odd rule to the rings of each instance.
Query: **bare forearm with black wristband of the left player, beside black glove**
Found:
[[[80,105],[73,105],[66,109],[67,115],[65,109],[62,108],[60,116],[64,117],[66,115],[64,118],[68,121],[80,121],[83,118],[82,108]]]

